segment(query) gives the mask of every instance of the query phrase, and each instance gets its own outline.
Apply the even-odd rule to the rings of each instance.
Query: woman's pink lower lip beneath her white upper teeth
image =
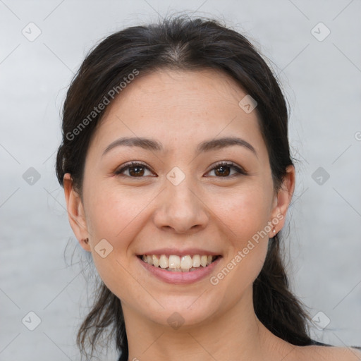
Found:
[[[153,276],[156,276],[161,281],[167,283],[174,283],[174,284],[188,284],[188,283],[195,283],[207,277],[219,264],[221,260],[221,256],[219,256],[214,262],[209,264],[207,267],[200,267],[199,269],[195,269],[195,271],[188,271],[188,272],[172,272],[166,271],[166,269],[162,269],[159,267],[154,267],[150,264],[145,263],[137,257],[142,267],[144,267],[147,271],[149,271]]]

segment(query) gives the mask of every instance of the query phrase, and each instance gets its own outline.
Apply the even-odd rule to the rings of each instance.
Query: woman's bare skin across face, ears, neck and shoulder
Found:
[[[358,360],[341,348],[290,345],[257,319],[252,283],[272,229],[216,286],[209,277],[188,285],[164,283],[140,267],[137,255],[146,250],[200,247],[222,255],[215,275],[280,215],[276,233],[283,227],[295,169],[288,167],[276,192],[257,109],[246,114],[238,106],[246,94],[216,71],[139,75],[108,106],[92,137],[81,195],[71,175],[64,176],[73,231],[121,299],[129,360]],[[121,146],[102,155],[111,142],[128,136],[157,140],[164,152]],[[195,152],[200,142],[226,136],[246,140],[257,154],[240,146]],[[141,176],[134,169],[116,175],[128,161],[148,169]],[[232,169],[229,176],[219,175],[217,161],[233,161],[247,175],[232,176]],[[178,185],[166,178],[174,166],[185,176]],[[113,247],[105,258],[94,250],[102,239]],[[167,322],[173,312],[184,319],[178,329]]]

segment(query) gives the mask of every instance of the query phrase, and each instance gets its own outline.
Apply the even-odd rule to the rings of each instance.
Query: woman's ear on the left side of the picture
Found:
[[[87,231],[87,221],[85,219],[84,206],[78,192],[73,188],[73,179],[70,173],[63,177],[63,187],[66,199],[66,208],[68,210],[68,219],[71,228],[84,250],[90,251],[90,245],[87,243],[89,232]]]

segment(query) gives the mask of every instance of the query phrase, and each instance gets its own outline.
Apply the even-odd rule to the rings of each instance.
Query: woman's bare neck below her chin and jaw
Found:
[[[164,326],[123,306],[128,338],[128,360],[267,360],[287,353],[287,343],[259,322],[252,288],[221,314],[178,329]],[[272,355],[272,357],[270,357]]]

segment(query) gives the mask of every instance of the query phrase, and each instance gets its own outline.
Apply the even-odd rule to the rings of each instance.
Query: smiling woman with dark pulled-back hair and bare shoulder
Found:
[[[214,20],[130,27],[91,51],[56,164],[102,279],[82,352],[113,326],[121,361],[360,360],[312,341],[288,290],[287,121],[267,64]]]

